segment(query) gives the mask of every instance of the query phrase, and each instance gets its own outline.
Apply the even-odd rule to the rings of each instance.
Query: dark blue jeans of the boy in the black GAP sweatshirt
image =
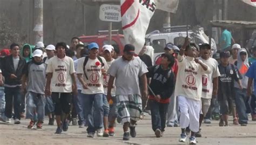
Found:
[[[169,103],[159,103],[154,100],[149,100],[150,110],[151,110],[151,122],[152,129],[160,129],[164,132],[165,122],[166,122],[166,113],[169,106]]]

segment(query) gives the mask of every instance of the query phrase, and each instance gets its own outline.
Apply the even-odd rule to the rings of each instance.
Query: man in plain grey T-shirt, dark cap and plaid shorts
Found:
[[[108,70],[110,74],[107,86],[107,99],[111,99],[111,90],[116,78],[116,98],[118,115],[122,119],[123,140],[129,140],[130,134],[136,137],[136,122],[142,113],[142,98],[139,89],[139,78],[142,79],[143,95],[147,97],[146,65],[139,57],[134,57],[134,46],[126,44],[122,58],[115,60]],[[129,133],[130,127],[130,133]]]

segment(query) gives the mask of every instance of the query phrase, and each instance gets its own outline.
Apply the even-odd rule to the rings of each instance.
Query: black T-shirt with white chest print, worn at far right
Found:
[[[241,79],[241,75],[235,65],[222,66],[219,64],[218,67],[220,71],[218,100],[234,99],[234,81]]]

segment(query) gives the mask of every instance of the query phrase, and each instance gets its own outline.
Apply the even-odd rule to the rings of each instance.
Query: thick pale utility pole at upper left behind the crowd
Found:
[[[43,42],[43,0],[33,1],[33,43]]]

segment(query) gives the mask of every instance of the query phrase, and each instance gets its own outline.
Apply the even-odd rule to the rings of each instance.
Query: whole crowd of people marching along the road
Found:
[[[148,113],[156,137],[166,126],[181,128],[180,142],[196,144],[201,123],[220,120],[219,126],[246,126],[256,121],[254,83],[256,48],[251,58],[239,44],[212,54],[208,44],[185,38],[183,46],[166,44],[153,62],[153,47],[136,56],[126,44],[123,55],[112,45],[100,51],[73,37],[44,46],[11,44],[1,51],[0,120],[15,124],[30,119],[28,128],[43,128],[45,115],[56,134],[70,125],[87,127],[87,137],[114,136],[123,125],[123,140],[136,137],[137,121]],[[231,53],[230,53],[231,51]],[[146,112],[146,113],[145,113]],[[77,120],[78,119],[78,120]]]

